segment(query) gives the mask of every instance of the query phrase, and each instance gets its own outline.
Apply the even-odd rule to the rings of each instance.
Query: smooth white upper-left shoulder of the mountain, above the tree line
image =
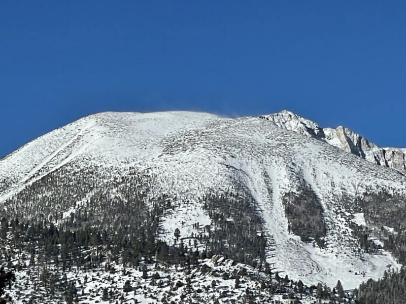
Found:
[[[178,117],[178,119],[177,119]],[[165,135],[193,127],[211,115],[174,113],[100,113],[33,140],[1,160],[0,190],[35,180],[79,157],[117,166],[156,153]]]

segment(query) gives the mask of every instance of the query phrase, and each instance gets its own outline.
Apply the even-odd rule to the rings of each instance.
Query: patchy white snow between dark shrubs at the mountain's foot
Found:
[[[251,267],[233,263],[232,260],[226,259],[223,256],[213,256],[211,259],[199,260],[199,267],[192,268],[188,273],[186,269],[175,270],[175,267],[169,267],[164,269],[162,265],[158,265],[155,268],[154,264],[145,264],[141,261],[140,267],[146,265],[148,269],[148,278],[142,278],[142,272],[137,268],[125,268],[121,261],[111,263],[111,267],[114,270],[107,271],[105,269],[107,261],[104,261],[98,269],[92,269],[91,271],[84,271],[83,269],[77,269],[73,267],[71,271],[65,272],[66,278],[62,281],[75,284],[77,289],[77,296],[80,303],[114,303],[120,301],[124,303],[156,303],[163,301],[163,297],[167,302],[179,302],[184,297],[185,302],[191,300],[198,300],[202,303],[214,303],[217,299],[219,303],[229,303],[234,300],[238,303],[242,302],[242,299],[247,294],[247,290],[250,290],[254,297],[261,296],[263,302],[269,302],[270,298],[273,300],[279,300],[280,303],[289,304],[291,300],[283,299],[282,293],[270,294],[267,290],[259,290],[259,282],[257,280],[251,280],[251,276],[260,276],[262,280],[269,285],[275,279],[270,279],[263,274],[258,274],[257,270]],[[28,261],[25,263],[25,268],[16,272],[17,281],[14,285],[18,285],[18,288],[10,290],[10,295],[15,303],[26,303],[28,299],[33,300],[34,303],[53,303],[64,302],[63,294],[55,294],[56,298],[49,299],[45,294],[38,280],[38,267],[32,267]],[[201,272],[202,265],[207,265],[209,270],[206,273]],[[226,279],[222,277],[223,273],[227,273],[230,277],[233,273],[237,273],[245,268],[247,275],[241,276],[240,288],[235,288],[234,279]],[[48,268],[48,272],[53,272],[52,267]],[[159,279],[152,282],[151,275],[158,273]],[[171,277],[171,281],[168,278]],[[190,290],[187,290],[186,279],[189,278],[191,282]],[[123,287],[126,282],[130,283],[131,290],[125,292]],[[174,288],[171,282],[182,282],[184,285],[179,288]],[[215,287],[213,288],[212,282],[215,281]],[[33,282],[38,286],[33,286]],[[157,285],[160,284],[159,287]],[[108,290],[109,299],[103,300],[103,291]],[[200,291],[199,291],[200,289]],[[111,294],[110,294],[111,292]],[[223,292],[226,295],[223,295]],[[223,296],[222,296],[223,295]],[[316,301],[314,295],[302,294],[301,303],[311,304]],[[75,296],[76,297],[76,296]],[[58,301],[59,300],[59,301]],[[321,303],[327,303],[329,300],[321,300]]]

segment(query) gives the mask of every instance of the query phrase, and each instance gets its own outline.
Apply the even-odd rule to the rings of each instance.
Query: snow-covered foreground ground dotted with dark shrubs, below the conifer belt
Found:
[[[27,252],[25,252],[27,254]],[[17,262],[18,260],[18,262]],[[19,264],[16,282],[8,290],[8,295],[17,303],[65,303],[66,293],[51,291],[51,278],[57,284],[74,286],[72,299],[75,303],[279,303],[289,304],[292,298],[302,304],[328,303],[329,299],[316,299],[316,290],[297,288],[298,282],[284,281],[285,274],[276,279],[272,275],[259,272],[245,264],[236,263],[223,256],[199,260],[199,265],[175,268],[161,263],[141,261],[139,268],[126,268],[121,260],[109,263],[107,260],[99,268],[85,271],[73,267],[65,271],[56,270],[53,265],[45,269],[41,265],[29,265],[28,259],[12,256],[11,263]],[[146,267],[146,276],[142,268]],[[42,276],[46,272],[48,280]],[[236,278],[239,284],[236,285]],[[262,284],[261,284],[262,282]],[[55,284],[55,283],[54,283]],[[310,286],[308,286],[310,287]],[[65,287],[69,290],[69,287]],[[52,298],[50,294],[52,293]]]

